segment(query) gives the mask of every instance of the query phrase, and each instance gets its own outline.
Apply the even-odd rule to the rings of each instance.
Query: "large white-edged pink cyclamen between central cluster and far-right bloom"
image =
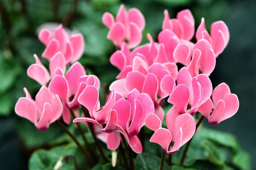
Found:
[[[166,88],[167,85],[162,84],[162,88],[164,87]],[[177,75],[177,86],[169,94],[168,102],[175,105],[180,114],[194,115],[198,107],[206,102],[211,94],[212,84],[207,75],[200,74],[192,78],[187,68],[183,67]]]

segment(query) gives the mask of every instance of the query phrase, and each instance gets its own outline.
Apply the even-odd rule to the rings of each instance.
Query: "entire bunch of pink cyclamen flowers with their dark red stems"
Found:
[[[163,149],[160,170],[164,168],[165,153],[175,154],[189,142],[180,160],[180,165],[184,166],[187,148],[202,119],[205,117],[210,124],[219,124],[239,108],[238,97],[231,93],[227,84],[221,83],[213,89],[209,79],[216,58],[229,42],[227,25],[222,21],[214,22],[209,34],[202,18],[195,31],[189,9],[180,11],[174,19],[170,19],[165,10],[158,42],[147,34],[149,42],[138,46],[145,26],[144,16],[138,9],[126,11],[122,4],[115,18],[106,12],[102,22],[109,28],[107,38],[118,49],[110,56],[110,63],[120,70],[117,80],[110,84],[106,103],[99,102],[98,77],[87,75],[77,62],[85,46],[83,35],[69,36],[59,25],[53,33],[42,29],[38,35],[46,46],[42,57],[49,60],[49,71],[35,54],[36,64],[29,66],[27,75],[42,88],[35,100],[24,88],[26,97],[18,99],[17,115],[31,121],[38,130],[47,130],[54,122],[59,124],[85,154],[92,164],[90,167],[97,163],[93,159],[95,153],[78,122],[83,122],[90,130],[101,157],[108,162],[110,157],[106,156],[98,139],[106,143],[112,151],[112,166],[117,163],[121,166],[123,162],[126,169],[134,169],[130,149],[137,154],[144,152],[146,127],[152,130],[149,141]],[[191,42],[194,35],[195,43]],[[184,67],[178,70],[177,63]],[[164,113],[167,97],[173,107]],[[61,123],[61,118],[65,124],[76,123],[88,150]],[[117,160],[117,152],[122,161]],[[127,156],[130,163],[125,159]],[[172,166],[170,160],[168,165]],[[57,163],[55,169],[58,166]]]

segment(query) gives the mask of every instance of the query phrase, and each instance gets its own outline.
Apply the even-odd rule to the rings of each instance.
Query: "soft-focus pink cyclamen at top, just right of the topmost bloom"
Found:
[[[168,11],[164,10],[164,29],[170,29],[182,40],[191,40],[195,33],[195,20],[191,11],[184,9],[177,13],[177,19],[170,19]]]

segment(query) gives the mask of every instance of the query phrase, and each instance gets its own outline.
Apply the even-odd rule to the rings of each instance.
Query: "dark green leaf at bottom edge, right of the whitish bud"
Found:
[[[159,170],[161,159],[152,154],[138,154],[135,159],[135,170]],[[167,163],[164,164],[164,170],[170,170]]]

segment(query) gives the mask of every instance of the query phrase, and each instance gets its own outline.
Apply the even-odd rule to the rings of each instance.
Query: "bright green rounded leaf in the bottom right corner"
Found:
[[[241,170],[250,170],[251,169],[251,159],[247,152],[241,148],[237,148],[234,151],[234,156],[232,157],[232,163],[234,166],[240,168]]]

